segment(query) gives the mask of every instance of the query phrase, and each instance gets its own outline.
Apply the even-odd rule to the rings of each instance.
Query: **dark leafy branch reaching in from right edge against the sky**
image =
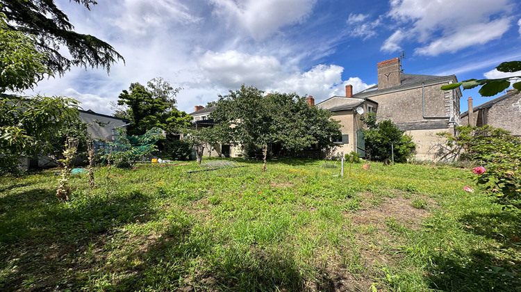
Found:
[[[499,72],[519,72],[521,71],[521,61],[503,62],[496,67]],[[465,81],[447,84],[441,87],[442,90],[452,90],[463,86],[463,89],[471,89],[481,86],[479,94],[483,97],[491,97],[510,87],[511,81],[519,80],[521,76],[510,76],[499,79],[468,79]],[[513,88],[521,90],[521,81],[513,83]]]

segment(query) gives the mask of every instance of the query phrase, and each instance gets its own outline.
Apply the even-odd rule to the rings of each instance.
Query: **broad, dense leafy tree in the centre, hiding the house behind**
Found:
[[[222,136],[234,145],[261,151],[266,170],[268,147],[299,151],[312,145],[331,145],[331,136],[340,133],[340,124],[329,120],[329,111],[308,106],[305,97],[295,93],[264,92],[242,85],[240,90],[220,96],[210,114],[220,122]]]

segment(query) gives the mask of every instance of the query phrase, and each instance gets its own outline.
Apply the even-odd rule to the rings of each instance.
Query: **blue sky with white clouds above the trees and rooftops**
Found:
[[[377,83],[377,63],[405,52],[405,73],[459,81],[502,76],[521,60],[520,1],[514,0],[110,0],[91,11],[56,0],[79,33],[113,45],[126,63],[74,68],[34,92],[65,95],[110,114],[132,82],[156,76],[181,87],[192,112],[242,83],[267,92],[313,95],[320,102]],[[34,92],[26,92],[32,94]],[[464,90],[474,106],[493,97]]]

